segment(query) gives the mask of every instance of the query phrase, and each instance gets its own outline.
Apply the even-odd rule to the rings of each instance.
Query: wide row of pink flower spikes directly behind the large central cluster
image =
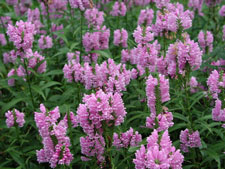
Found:
[[[136,71],[127,70],[125,64],[116,65],[112,59],[91,67],[89,63],[82,66],[75,60],[69,61],[63,68],[64,77],[68,82],[81,82],[86,89],[100,87],[107,92],[121,92],[131,78],[136,78]],[[134,74],[134,75],[133,75]]]

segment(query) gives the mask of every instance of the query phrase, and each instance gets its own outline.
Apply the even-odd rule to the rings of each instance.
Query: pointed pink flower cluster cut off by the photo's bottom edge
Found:
[[[168,130],[162,135],[154,130],[147,138],[147,147],[141,146],[135,153],[133,160],[136,169],[181,169],[184,161],[180,150],[172,146]]]

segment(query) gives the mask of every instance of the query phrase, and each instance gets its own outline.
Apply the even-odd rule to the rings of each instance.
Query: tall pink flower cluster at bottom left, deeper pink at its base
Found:
[[[39,163],[49,162],[51,168],[58,164],[69,165],[73,160],[70,152],[70,138],[66,136],[67,119],[60,118],[59,108],[47,112],[43,104],[40,105],[41,112],[34,113],[34,119],[42,137],[43,148],[37,150],[37,160]]]

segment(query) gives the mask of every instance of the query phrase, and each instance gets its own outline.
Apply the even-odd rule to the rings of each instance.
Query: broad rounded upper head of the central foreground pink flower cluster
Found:
[[[85,95],[83,102],[77,110],[77,121],[88,135],[94,135],[96,131],[101,133],[102,122],[108,126],[120,125],[127,114],[118,93],[106,94],[99,90],[96,94]]]

